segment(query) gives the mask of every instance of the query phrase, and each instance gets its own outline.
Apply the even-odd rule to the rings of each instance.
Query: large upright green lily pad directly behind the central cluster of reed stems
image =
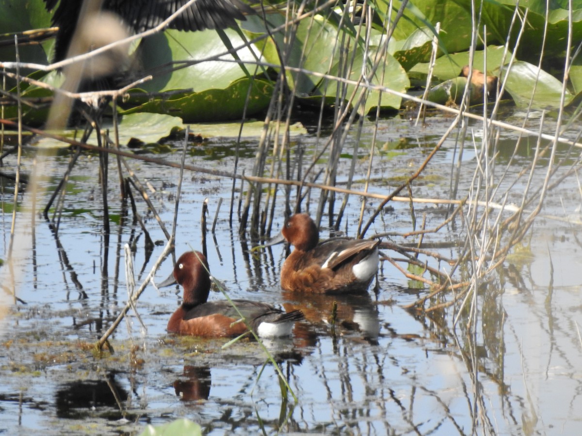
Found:
[[[269,26],[276,27],[278,24],[284,23],[284,19],[285,17],[279,15],[269,16]],[[297,97],[308,99],[311,103],[321,103],[322,98],[325,99],[326,103],[334,103],[336,97],[347,99],[352,95],[356,85],[343,85],[341,78],[358,80],[362,72],[369,74],[374,59],[376,59],[374,56],[376,56],[375,52],[378,51],[378,46],[371,45],[366,51],[363,47],[364,41],[354,37],[353,24],[350,22],[339,26],[340,23],[343,22],[335,12],[332,12],[327,19],[324,16],[316,15],[313,19],[303,20],[297,24],[297,32],[293,44],[290,46],[283,39],[283,35],[279,34],[274,35],[274,40],[266,40],[262,44],[263,56],[269,63],[281,64],[279,56],[283,53],[286,56],[285,65],[338,77],[338,80],[321,79],[320,76],[308,72],[288,71],[286,78]],[[264,32],[261,31],[261,25],[256,22],[256,19],[244,23],[243,27],[252,31],[252,35]],[[372,33],[374,34],[372,42],[382,41],[381,33],[376,30],[373,30]],[[341,51],[340,47],[342,47]],[[343,53],[342,56],[339,56],[340,52]],[[368,57],[364,59],[366,54]],[[346,71],[349,72],[347,77]],[[370,83],[383,85],[400,92],[405,92],[410,86],[410,81],[402,65],[388,53],[382,55],[379,67]],[[380,98],[380,96],[382,97]],[[364,104],[359,108],[360,115],[369,113],[379,105],[382,108],[398,109],[400,108],[400,98],[372,90]]]

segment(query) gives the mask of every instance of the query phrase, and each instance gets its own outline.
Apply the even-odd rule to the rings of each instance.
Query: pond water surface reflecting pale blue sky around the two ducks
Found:
[[[428,122],[422,127],[400,117],[381,121],[378,141],[383,146],[374,157],[371,191],[388,194],[413,173],[450,119],[434,117]],[[354,180],[365,179],[371,136],[372,123],[367,121],[360,139],[365,165],[357,166]],[[503,182],[509,185],[511,176],[530,160],[535,141],[520,148],[508,165],[516,135],[502,136],[501,144],[508,149],[501,149],[497,159],[509,168]],[[309,134],[300,140],[307,148],[315,142]],[[228,149],[233,144],[230,138],[192,144],[186,163],[232,170],[234,155]],[[178,162],[178,150],[176,145],[176,153],[164,158]],[[566,152],[560,150],[558,155]],[[462,158],[459,192],[463,195],[472,183],[477,151],[478,146],[471,145]],[[249,173],[253,141],[244,145],[241,156],[239,172],[244,168]],[[4,160],[6,171],[13,170],[14,159]],[[456,159],[451,138],[414,184],[414,195],[449,198]],[[64,151],[51,158],[51,187],[68,161],[69,153]],[[340,159],[338,180],[346,180],[350,163],[349,158]],[[115,159],[109,165],[113,180]],[[147,180],[155,188],[150,196],[171,228],[179,171],[145,162],[130,165],[142,182]],[[543,178],[543,169],[536,177]],[[582,257],[577,255],[581,240],[576,223],[582,197],[575,176],[554,188],[544,205],[545,217],[538,218],[523,241],[532,255],[508,260],[482,287],[474,335],[468,334],[466,319],[453,328],[453,308],[428,316],[404,309],[430,290],[389,262],[382,264],[377,289],[371,289],[369,296],[286,295],[279,288],[285,247],[249,252],[253,243],[239,235],[237,220],[229,225],[231,187],[229,179],[186,171],[176,253],[201,249],[203,201],[209,200],[211,225],[222,198],[215,233],[208,234],[212,274],[232,298],[281,303],[306,315],[292,339],[265,344],[297,402],[282,398],[275,370],[270,364],[263,368],[265,355],[257,343],[241,341],[223,348],[226,340],[168,335],[166,323],[180,303],[181,291],[175,288],[157,291],[149,285],[137,305],[139,316],[130,311],[110,338],[115,352],[94,351],[92,345],[127,300],[123,245],[134,247],[139,285],[162,252],[165,237],[134,192],[151,239],[161,243],[148,255],[143,230],[133,222],[132,210],[122,205],[119,188],[112,182],[107,241],[97,158],[87,154],[70,178],[58,234],[40,217],[33,229],[18,229],[29,237],[34,234],[34,251],[15,266],[19,301],[8,297],[8,311],[0,323],[0,433],[139,434],[147,423],[157,425],[178,417],[199,423],[208,434],[529,435],[576,434],[582,428]],[[362,187],[357,183],[353,188]],[[3,188],[6,253],[13,184],[5,182]],[[510,202],[519,202],[520,190],[519,185],[513,188]],[[239,196],[237,192],[235,205]],[[312,192],[310,202],[303,205],[311,215],[317,197],[318,192]],[[378,203],[368,201],[365,215]],[[395,242],[417,242],[401,236],[412,230],[409,205],[391,205],[368,234],[394,232]],[[275,230],[282,226],[283,206],[277,205],[275,216],[280,219]],[[417,220],[424,214],[427,228],[435,226],[443,220],[444,209],[419,204]],[[341,226],[350,236],[356,234],[359,211],[360,199],[350,196]],[[322,223],[327,222],[324,217]],[[427,238],[450,241],[459,233],[449,224]],[[322,228],[321,237],[327,235]],[[454,245],[441,252],[448,258],[458,255]],[[159,283],[171,269],[170,256],[155,280]],[[212,292],[210,298],[223,297]],[[338,324],[332,328],[325,320],[334,301]]]

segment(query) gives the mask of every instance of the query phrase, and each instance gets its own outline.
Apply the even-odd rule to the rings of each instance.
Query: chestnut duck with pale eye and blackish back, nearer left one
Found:
[[[158,287],[180,284],[184,288],[182,305],[168,321],[168,332],[206,338],[237,337],[247,333],[249,327],[259,337],[284,337],[292,334],[296,321],[304,319],[300,310],[284,312],[264,302],[233,299],[239,313],[226,300],[207,301],[210,294],[210,269],[203,253],[183,253],[172,274]]]

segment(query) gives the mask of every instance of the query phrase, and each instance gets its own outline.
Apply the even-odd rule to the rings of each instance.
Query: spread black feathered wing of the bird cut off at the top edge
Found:
[[[118,13],[136,32],[158,26],[187,0],[109,0],[105,9]],[[240,0],[197,0],[169,24],[177,30],[204,30],[235,26],[244,14],[255,13]]]

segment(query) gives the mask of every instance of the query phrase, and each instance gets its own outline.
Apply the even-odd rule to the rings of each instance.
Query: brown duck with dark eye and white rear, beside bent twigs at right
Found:
[[[279,237],[294,250],[281,268],[281,288],[290,292],[361,294],[378,272],[379,240],[331,238],[319,242],[319,231],[307,213],[289,217]]]

